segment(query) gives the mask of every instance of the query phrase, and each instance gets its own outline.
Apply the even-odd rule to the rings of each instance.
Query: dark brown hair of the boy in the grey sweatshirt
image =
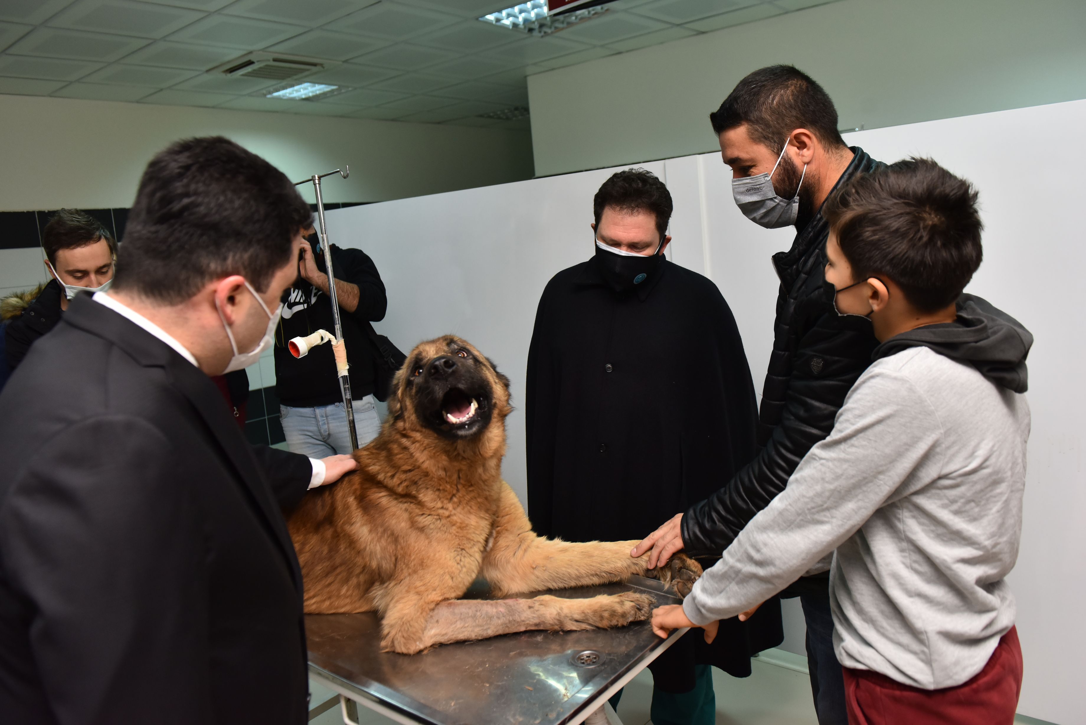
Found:
[[[954,303],[981,266],[976,189],[931,159],[855,177],[822,214],[854,282],[885,275],[921,312]]]

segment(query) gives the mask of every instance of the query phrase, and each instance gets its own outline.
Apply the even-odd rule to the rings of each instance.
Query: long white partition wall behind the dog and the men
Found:
[[[1086,651],[1086,393],[1074,366],[1086,358],[1081,277],[1086,270],[1079,185],[1086,101],[850,134],[876,159],[930,155],[981,192],[985,261],[969,291],[1036,336],[1022,548],[1011,576],[1019,602],[1025,684],[1019,711],[1086,723],[1078,658]],[[769,257],[791,229],[765,230],[731,200],[717,154],[641,164],[674,198],[669,257],[709,276],[728,299],[760,392],[772,345],[776,277]],[[365,249],[389,291],[378,323],[404,351],[444,333],[477,345],[523,402],[528,343],[539,296],[557,271],[593,253],[592,196],[614,170],[519,182],[332,211],[329,233]],[[525,498],[525,425],[508,422],[504,473]]]

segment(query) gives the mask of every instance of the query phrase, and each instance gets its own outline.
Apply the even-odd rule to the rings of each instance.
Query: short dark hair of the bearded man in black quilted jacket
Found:
[[[830,95],[794,65],[770,65],[740,80],[709,114],[709,123],[717,136],[746,124],[750,139],[773,153],[781,152],[796,128],[806,128],[829,148],[845,147]]]

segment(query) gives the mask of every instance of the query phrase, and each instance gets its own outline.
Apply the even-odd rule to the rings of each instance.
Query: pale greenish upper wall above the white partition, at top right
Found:
[[[529,76],[535,173],[712,151],[709,112],[773,63],[822,84],[843,128],[1086,98],[1084,38],[1082,0],[842,0],[602,58]]]

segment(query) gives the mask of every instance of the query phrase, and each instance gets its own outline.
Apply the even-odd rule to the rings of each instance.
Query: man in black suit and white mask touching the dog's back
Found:
[[[225,138],[140,182],[112,289],[0,395],[4,723],[304,723],[280,507],[354,467],[250,447],[209,375],[272,339],[310,210]]]

